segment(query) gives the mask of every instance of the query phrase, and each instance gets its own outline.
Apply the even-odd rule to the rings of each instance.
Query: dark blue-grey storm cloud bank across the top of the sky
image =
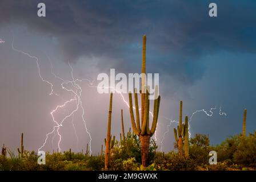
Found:
[[[148,68],[157,64],[159,72],[181,81],[202,77],[199,59],[206,53],[255,53],[254,1],[215,1],[218,18],[208,16],[210,1],[44,1],[46,18],[37,16],[39,2],[1,1],[1,24],[26,24],[57,38],[65,60],[104,56],[101,69],[106,62],[121,72],[139,67],[143,34]]]

